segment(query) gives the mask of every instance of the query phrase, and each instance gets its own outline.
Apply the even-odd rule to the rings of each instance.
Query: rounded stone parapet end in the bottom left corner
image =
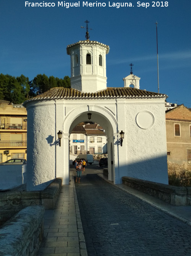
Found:
[[[36,255],[43,239],[44,206],[19,211],[0,228],[0,255]]]

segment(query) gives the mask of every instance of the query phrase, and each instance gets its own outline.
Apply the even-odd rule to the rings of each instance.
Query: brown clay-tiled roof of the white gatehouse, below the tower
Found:
[[[28,101],[39,99],[115,99],[115,98],[167,98],[166,94],[149,92],[131,87],[108,87],[97,92],[81,92],[73,88],[54,87]]]

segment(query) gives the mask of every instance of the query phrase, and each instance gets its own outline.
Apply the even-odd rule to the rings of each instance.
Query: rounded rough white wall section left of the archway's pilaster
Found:
[[[27,112],[27,190],[43,190],[56,178],[55,102],[29,102]]]

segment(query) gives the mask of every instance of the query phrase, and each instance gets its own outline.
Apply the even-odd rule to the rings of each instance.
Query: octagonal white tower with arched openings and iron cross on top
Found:
[[[71,88],[82,92],[96,92],[107,87],[106,54],[108,45],[89,40],[86,20],[86,40],[68,45],[71,58]]]

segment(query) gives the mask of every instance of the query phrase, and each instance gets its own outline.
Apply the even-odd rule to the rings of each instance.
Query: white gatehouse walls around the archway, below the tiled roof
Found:
[[[27,111],[28,190],[42,190],[55,177],[69,183],[70,133],[79,122],[89,121],[88,112],[107,134],[110,180],[121,183],[129,176],[168,183],[164,98],[49,99],[27,103]],[[58,130],[63,130],[61,147],[56,143]]]

